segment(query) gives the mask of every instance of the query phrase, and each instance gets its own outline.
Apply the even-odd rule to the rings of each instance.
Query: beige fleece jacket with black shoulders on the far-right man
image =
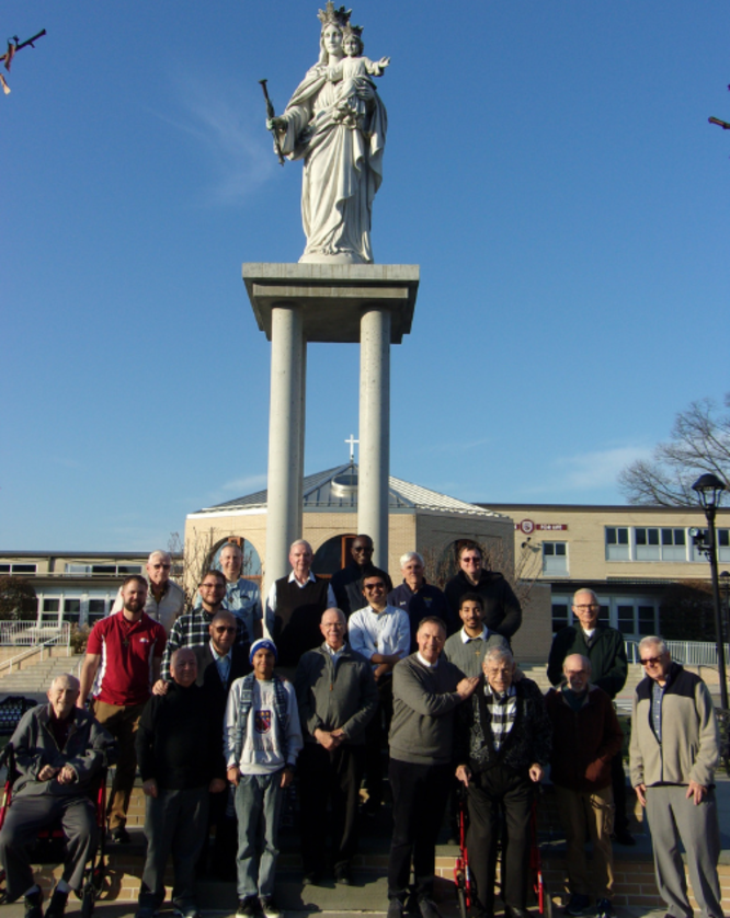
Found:
[[[662,742],[651,723],[654,680],[647,676],[636,688],[631,719],[631,787],[646,784],[712,785],[719,760],[719,733],[705,682],[672,663],[662,699]]]

